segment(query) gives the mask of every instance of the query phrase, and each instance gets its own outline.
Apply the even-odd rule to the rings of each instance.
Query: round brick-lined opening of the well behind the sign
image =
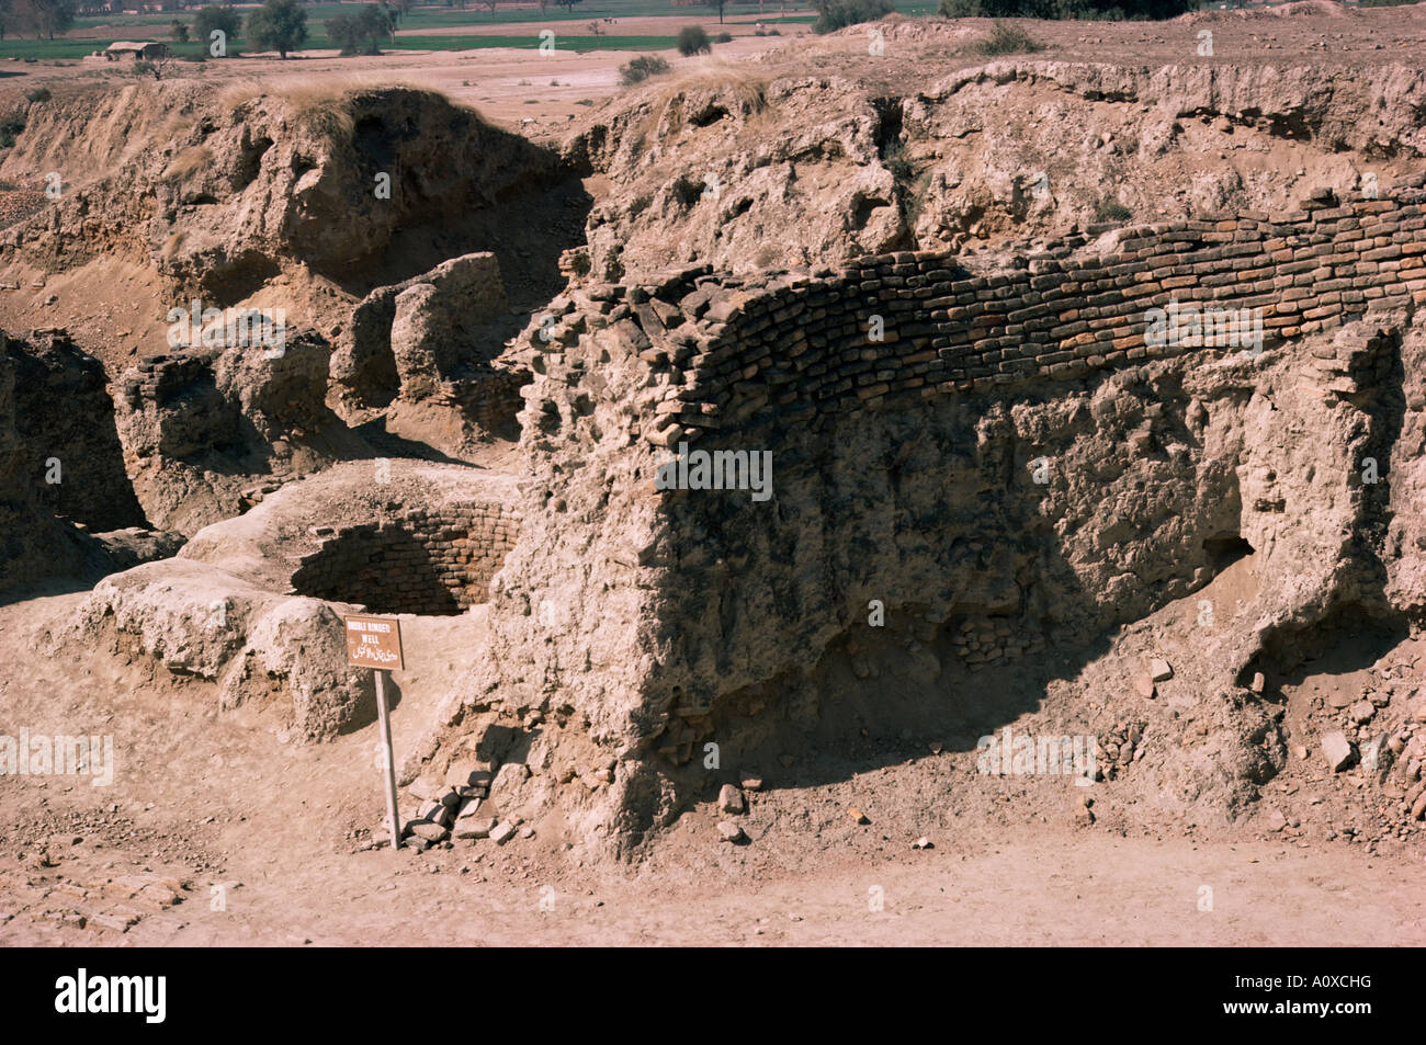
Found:
[[[302,594],[374,613],[459,613],[489,597],[491,577],[519,536],[499,503],[408,512],[399,520],[335,527],[292,575]]]

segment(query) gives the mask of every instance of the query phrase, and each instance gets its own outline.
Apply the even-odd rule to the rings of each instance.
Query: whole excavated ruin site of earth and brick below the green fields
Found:
[[[1426,942],[1426,9],[814,16],[0,61],[0,942]]]

